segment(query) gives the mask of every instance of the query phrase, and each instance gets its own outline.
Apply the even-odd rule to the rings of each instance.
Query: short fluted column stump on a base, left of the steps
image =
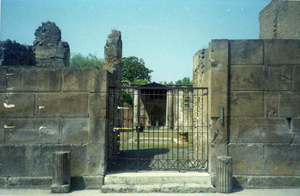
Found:
[[[68,151],[53,153],[52,193],[70,192],[70,156],[71,153]]]

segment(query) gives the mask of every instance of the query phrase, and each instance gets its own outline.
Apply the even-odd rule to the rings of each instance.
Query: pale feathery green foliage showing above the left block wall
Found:
[[[83,56],[80,53],[73,53],[70,57],[71,67],[96,67],[102,69],[103,59],[98,58],[96,54]]]

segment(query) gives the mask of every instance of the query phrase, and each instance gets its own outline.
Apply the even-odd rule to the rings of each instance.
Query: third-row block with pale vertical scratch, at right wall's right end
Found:
[[[298,117],[300,115],[300,92],[265,93],[265,115]]]

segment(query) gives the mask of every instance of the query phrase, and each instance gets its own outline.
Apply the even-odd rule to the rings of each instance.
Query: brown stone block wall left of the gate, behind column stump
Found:
[[[54,151],[71,184],[100,188],[111,74],[87,67],[0,67],[0,187],[49,188]]]

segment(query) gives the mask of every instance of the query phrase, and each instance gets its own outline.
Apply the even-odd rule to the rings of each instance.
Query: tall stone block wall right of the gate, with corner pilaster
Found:
[[[299,187],[299,46],[300,40],[224,39],[211,40],[204,60],[195,54],[194,86],[209,88],[213,183],[216,156],[228,155],[236,188]]]

